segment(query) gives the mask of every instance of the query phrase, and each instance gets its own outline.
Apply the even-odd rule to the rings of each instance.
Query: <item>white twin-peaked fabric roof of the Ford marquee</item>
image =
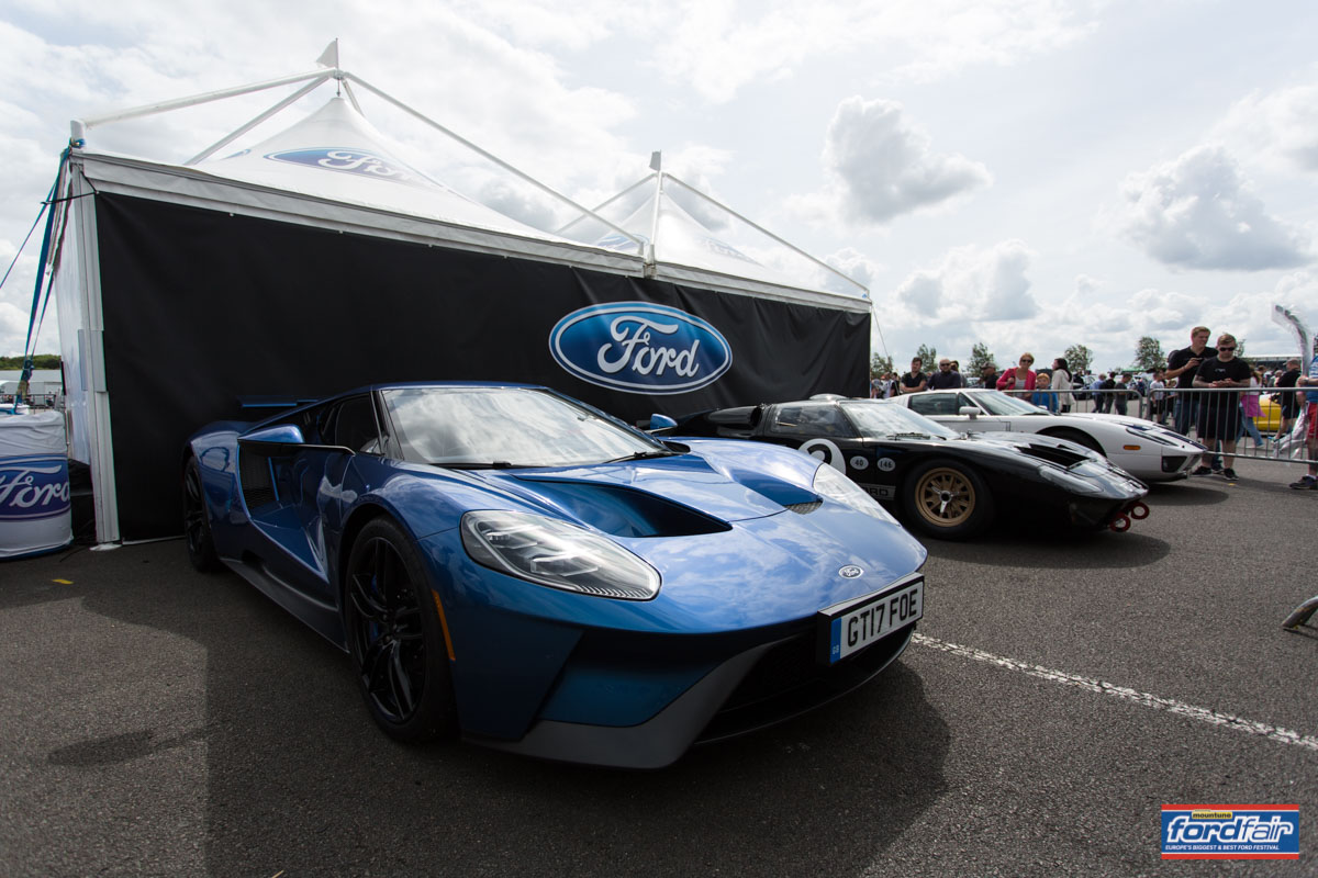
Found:
[[[625,191],[635,190],[648,180],[655,182],[654,200],[650,211],[652,219],[650,222],[645,222],[643,209],[637,211],[634,216],[626,219],[610,216],[609,212],[602,209],[604,205],[596,211],[590,211],[502,159],[486,153],[476,143],[460,137],[444,125],[366,83],[361,78],[341,70],[337,66],[337,41],[333,41],[316,62],[320,65],[320,68],[310,72],[107,113],[100,117],[74,120],[71,124],[71,142],[78,147],[75,154],[86,158],[99,155],[111,159],[108,165],[116,168],[167,168],[165,170],[166,175],[178,178],[174,182],[159,174],[152,175],[148,171],[145,176],[150,176],[152,179],[144,182],[144,175],[136,171],[104,171],[105,179],[101,180],[103,183],[111,187],[123,187],[120,191],[125,192],[133,188],[140,190],[130,194],[145,195],[150,190],[163,187],[179,195],[179,200],[183,201],[190,196],[198,196],[195,197],[195,203],[199,207],[216,208],[221,207],[229,197],[236,197],[236,200],[245,201],[257,211],[269,211],[272,207],[277,207],[278,209],[270,212],[272,219],[299,221],[298,217],[302,216],[301,221],[304,222],[308,220],[312,222],[319,220],[318,224],[327,225],[341,222],[339,217],[332,216],[335,213],[332,209],[298,205],[285,207],[286,199],[281,197],[287,194],[302,195],[324,204],[360,205],[376,215],[406,217],[406,220],[372,220],[361,224],[362,228],[382,225],[384,228],[416,234],[424,240],[431,237],[435,229],[418,229],[415,220],[445,224],[449,232],[442,233],[438,237],[444,240],[445,245],[449,246],[465,246],[510,255],[530,255],[531,258],[554,262],[604,267],[606,270],[676,283],[693,283],[704,288],[724,292],[768,296],[834,308],[841,307],[847,311],[870,311],[869,291],[863,286],[832,266],[778,238],[726,205],[687,186],[672,174],[658,171],[658,163],[655,163],[656,174]],[[286,111],[302,97],[331,82],[336,87],[336,96],[311,116],[232,155],[217,159],[212,158],[221,149],[240,141],[275,115]],[[302,84],[302,87],[204,149],[183,166],[162,166],[161,163],[144,162],[137,158],[99,153],[95,145],[88,145],[86,140],[87,133],[100,125],[141,118],[268,90],[286,90],[295,84]],[[353,86],[364,88],[373,96],[444,134],[471,153],[502,168],[506,174],[518,178],[522,183],[530,184],[560,204],[568,205],[588,225],[579,226],[575,221],[564,228],[575,228],[577,232],[583,228],[589,228],[590,234],[588,237],[583,237],[579,233],[561,236],[531,228],[410,167],[407,162],[398,158],[401,151],[390,145],[387,138],[366,121],[361,113]],[[194,180],[216,178],[245,184],[245,191],[253,194],[232,196],[229,192],[225,192],[225,195],[214,196],[211,194],[202,194],[200,190],[204,187],[194,184]],[[772,246],[778,247],[780,253],[789,253],[795,258],[804,258],[809,263],[813,263],[817,267],[817,271],[815,271],[816,275],[826,275],[834,283],[822,284],[812,280],[803,282],[796,276],[788,278],[784,272],[766,267],[760,261],[747,257],[735,246],[720,241],[708,228],[672,201],[671,195],[666,191],[666,186],[668,184],[689,191],[693,196],[706,201],[713,209],[755,229],[764,240],[772,242]],[[272,195],[256,194],[260,191],[270,192]],[[658,205],[658,209],[654,205]],[[630,225],[633,221],[635,225]],[[498,238],[489,240],[486,236],[480,234],[480,232],[494,233]],[[515,241],[509,240],[507,236],[511,236]],[[838,292],[838,290],[842,290],[842,292]]]

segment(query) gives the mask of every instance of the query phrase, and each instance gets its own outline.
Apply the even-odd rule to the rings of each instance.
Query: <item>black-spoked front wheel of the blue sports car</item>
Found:
[[[455,727],[438,602],[402,528],[389,519],[368,523],[348,559],[344,624],[366,707],[399,741],[427,741]]]

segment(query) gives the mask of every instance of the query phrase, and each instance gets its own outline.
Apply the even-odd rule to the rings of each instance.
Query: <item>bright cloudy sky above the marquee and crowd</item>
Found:
[[[1293,351],[1273,303],[1318,325],[1311,0],[419,5],[0,0],[0,262],[70,118],[311,70],[337,37],[345,70],[581,203],[663,150],[869,286],[874,350],[902,366],[920,344],[965,359],[982,341],[1000,366],[1083,344],[1107,369],[1198,323]],[[182,162],[273,100],[92,137]],[[442,172],[432,133],[362,107]],[[488,180],[468,194],[551,219]],[[0,354],[22,353],[38,249],[0,290]],[[37,349],[57,348],[47,315]]]

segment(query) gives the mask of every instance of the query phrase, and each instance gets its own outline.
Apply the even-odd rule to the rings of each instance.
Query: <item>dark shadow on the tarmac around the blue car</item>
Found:
[[[204,741],[211,875],[858,874],[946,790],[948,725],[902,661],[668,769],[583,769],[386,738],[335,646],[236,575],[192,571],[181,544],[71,561],[74,586],[37,577],[0,603],[80,598],[200,645],[206,721],[157,738],[144,681],[133,725],[47,761],[94,771]]]

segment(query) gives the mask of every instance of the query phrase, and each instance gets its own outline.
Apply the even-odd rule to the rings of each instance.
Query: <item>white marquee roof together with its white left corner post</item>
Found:
[[[328,68],[74,120],[71,124],[70,150],[61,166],[53,205],[55,240],[51,241],[50,262],[45,270],[51,272],[51,290],[58,304],[61,353],[72,416],[70,445],[76,459],[91,465],[100,541],[121,538],[111,391],[117,391],[120,396],[116,399],[121,399],[132,386],[120,376],[119,387],[111,388],[108,376],[111,367],[107,365],[100,253],[103,229],[98,224],[100,200],[113,203],[115,196],[127,196],[120,197],[121,204],[157,203],[175,211],[200,208],[215,216],[241,217],[248,221],[244,228],[249,228],[253,219],[272,220],[287,226],[419,244],[436,251],[459,250],[505,257],[510,262],[555,263],[560,274],[564,266],[588,269],[630,279],[670,282],[688,290],[817,305],[818,312],[850,317],[873,313],[863,287],[854,282],[849,282],[855,288],[851,295],[841,295],[787,280],[746,251],[720,241],[689,212],[667,200],[664,182],[681,184],[671,175],[658,175],[648,225],[643,222],[643,209],[633,208],[627,211],[629,216],[613,219],[576,204],[340,70],[336,55],[331,63],[333,66]],[[589,220],[590,237],[532,228],[422,172],[415,167],[422,162],[402,159],[405,151],[366,121],[353,86],[493,162],[523,184],[569,205]],[[273,116],[320,87],[333,87],[336,93],[310,116],[262,140],[250,136]],[[268,90],[282,90],[285,96],[182,165],[116,154],[100,149],[95,140],[95,130],[101,125]],[[291,93],[287,93],[290,90]],[[244,138],[256,142],[244,149]],[[237,151],[224,154],[223,150]],[[764,234],[778,241],[767,232]],[[786,246],[786,242],[782,244]],[[224,258],[224,254],[216,258]],[[162,290],[161,295],[186,297],[188,290],[185,286]],[[418,288],[424,288],[424,278],[418,278]],[[534,283],[526,284],[525,295],[534,296],[536,292]],[[219,301],[207,304],[212,305],[224,307]],[[116,313],[121,316],[121,312]],[[120,425],[113,432],[129,434]]]

